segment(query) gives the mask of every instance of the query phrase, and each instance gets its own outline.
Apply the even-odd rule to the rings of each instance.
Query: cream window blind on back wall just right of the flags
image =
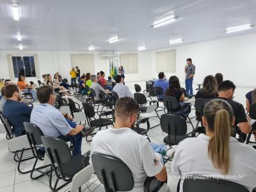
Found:
[[[138,54],[120,54],[120,66],[124,67],[125,74],[138,73]]]

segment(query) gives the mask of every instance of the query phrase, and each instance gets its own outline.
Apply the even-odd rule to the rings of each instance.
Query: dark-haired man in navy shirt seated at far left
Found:
[[[14,83],[6,84],[4,95],[6,102],[3,106],[3,115],[12,124],[15,137],[18,137],[24,131],[23,123],[29,122],[32,108],[19,102],[21,100],[20,90]]]

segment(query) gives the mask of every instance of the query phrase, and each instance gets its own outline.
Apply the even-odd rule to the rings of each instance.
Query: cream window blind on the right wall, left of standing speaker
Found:
[[[176,71],[176,51],[156,52],[156,71],[175,72]]]

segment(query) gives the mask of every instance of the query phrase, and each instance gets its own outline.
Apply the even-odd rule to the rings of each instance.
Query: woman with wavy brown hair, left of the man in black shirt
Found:
[[[202,90],[198,90],[195,99],[212,99],[218,97],[218,84],[214,76],[206,76]]]

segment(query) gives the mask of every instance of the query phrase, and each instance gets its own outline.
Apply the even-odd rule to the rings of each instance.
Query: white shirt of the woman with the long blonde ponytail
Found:
[[[208,157],[209,137],[205,134],[197,138],[188,138],[179,143],[172,162],[172,171],[177,175],[221,175],[214,168]],[[237,178],[220,178],[243,185],[252,191],[256,187],[256,150],[249,145],[239,143],[230,137],[230,167],[227,175],[237,175]],[[243,175],[243,179],[238,179]],[[182,191],[183,180],[180,182]]]

